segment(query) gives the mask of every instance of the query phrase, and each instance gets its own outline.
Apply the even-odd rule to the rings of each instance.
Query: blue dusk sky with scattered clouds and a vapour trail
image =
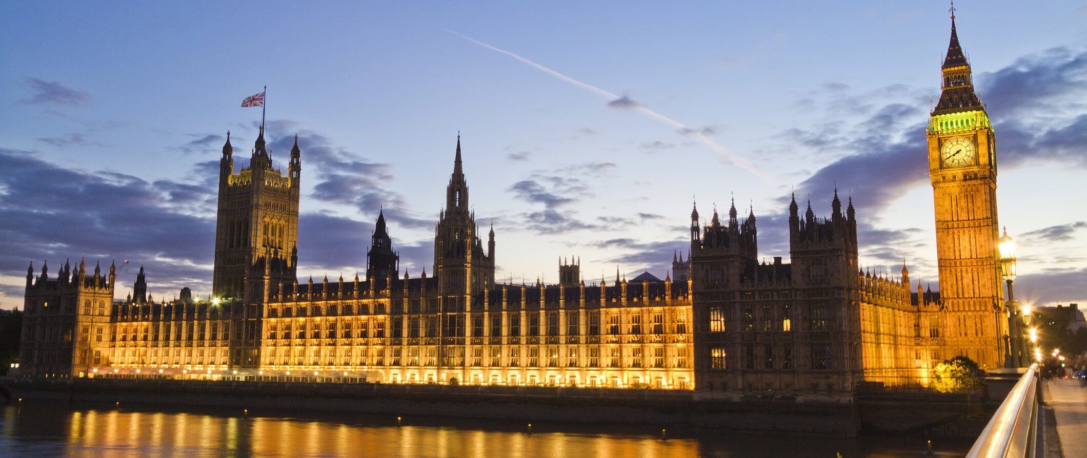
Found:
[[[1083,305],[1087,4],[955,7],[1016,297]],[[937,289],[924,127],[949,34],[942,1],[5,2],[0,307],[43,259],[116,259],[117,298],[139,265],[155,297],[209,294],[220,152],[230,130],[248,160],[261,111],[239,104],[265,85],[273,160],[302,151],[302,281],[363,271],[382,206],[430,273],[460,131],[503,281],[554,282],[561,256],[586,282],[663,278],[692,198],[752,206],[760,254],[787,258],[790,192],[826,217],[837,187],[861,264]]]

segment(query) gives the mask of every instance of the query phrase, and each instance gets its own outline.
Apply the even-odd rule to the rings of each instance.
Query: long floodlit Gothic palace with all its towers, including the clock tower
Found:
[[[115,268],[65,263],[26,275],[22,372],[310,382],[608,386],[842,399],[865,383],[925,385],[963,355],[1000,367],[996,148],[971,66],[951,39],[930,113],[939,292],[860,268],[851,199],[817,216],[788,206],[789,262],[759,262],[753,211],[690,214],[690,253],[663,280],[496,281],[497,242],[470,211],[460,137],[434,236],[434,264],[401,272],[377,216],[365,276],[297,276],[302,152],[273,166],[263,127],[250,165],[220,161],[212,300],[114,300]],[[465,154],[464,156],[468,156]],[[926,156],[919,151],[917,161]],[[875,179],[875,178],[871,178]],[[861,196],[863,198],[863,196]]]

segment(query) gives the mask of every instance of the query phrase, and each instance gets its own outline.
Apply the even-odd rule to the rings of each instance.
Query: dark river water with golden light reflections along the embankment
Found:
[[[252,415],[253,412],[250,412]],[[24,405],[0,411],[0,456],[352,456],[352,457],[749,457],[924,456],[923,441],[792,434],[705,433],[689,437],[592,433],[595,427],[542,427],[534,433],[498,423],[377,424],[383,418],[321,421],[267,416],[68,409]],[[367,422],[370,424],[367,424]],[[460,427],[440,425],[460,424]],[[555,429],[563,431],[555,431]],[[597,428],[599,430],[599,428]],[[659,430],[658,430],[659,431]],[[646,431],[648,432],[648,430]],[[670,431],[671,433],[671,431]],[[945,444],[952,456],[969,441]],[[941,454],[944,455],[944,454]]]

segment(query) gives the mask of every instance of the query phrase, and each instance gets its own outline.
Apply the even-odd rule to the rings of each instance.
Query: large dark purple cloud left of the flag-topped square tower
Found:
[[[200,289],[210,278],[214,191],[124,174],[70,169],[33,153],[0,149],[0,271],[22,276],[26,266],[86,256],[108,266],[117,259],[153,265],[162,288]],[[40,266],[40,265],[38,265]],[[124,273],[127,275],[127,273]],[[118,280],[125,283],[124,277]]]

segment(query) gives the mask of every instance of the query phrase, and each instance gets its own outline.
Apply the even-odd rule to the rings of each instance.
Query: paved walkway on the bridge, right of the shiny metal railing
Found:
[[[1053,409],[1061,455],[1087,457],[1087,384],[1074,379],[1049,380],[1045,400]]]

